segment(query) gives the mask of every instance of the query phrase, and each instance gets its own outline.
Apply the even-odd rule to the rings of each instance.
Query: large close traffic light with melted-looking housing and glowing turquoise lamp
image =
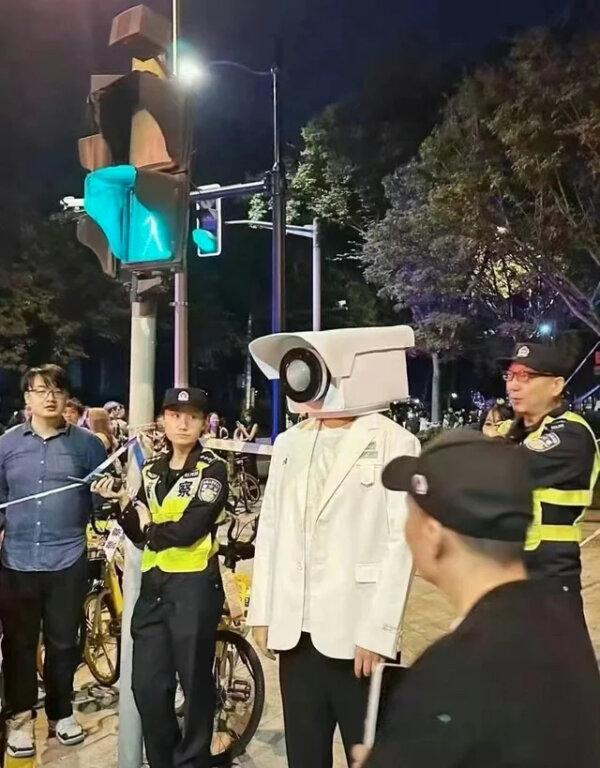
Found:
[[[154,271],[185,258],[192,115],[188,95],[166,78],[169,40],[167,19],[130,8],[113,20],[110,44],[138,57],[133,71],[92,77],[96,133],[79,142],[90,173],[77,235],[108,274],[115,259],[125,269]]]

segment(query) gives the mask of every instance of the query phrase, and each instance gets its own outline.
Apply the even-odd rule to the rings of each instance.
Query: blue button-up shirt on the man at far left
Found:
[[[85,429],[65,426],[44,439],[21,424],[0,437],[0,502],[67,485],[68,475],[85,477],[105,458]],[[91,511],[86,486],[8,507],[2,563],[17,571],[68,568],[85,550]]]

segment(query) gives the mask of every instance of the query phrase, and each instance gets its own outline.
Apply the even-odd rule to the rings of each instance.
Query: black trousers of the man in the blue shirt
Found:
[[[42,626],[46,714],[49,720],[73,714],[73,677],[80,661],[78,633],[87,587],[86,553],[61,571],[0,570],[4,691],[9,715],[31,710],[36,704],[36,653]]]

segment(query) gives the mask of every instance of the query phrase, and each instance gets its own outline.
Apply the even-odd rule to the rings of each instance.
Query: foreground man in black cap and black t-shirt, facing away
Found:
[[[600,675],[567,594],[528,581],[527,451],[472,432],[394,459],[406,537],[462,620],[391,696],[365,768],[598,768]],[[391,674],[391,673],[390,673]]]

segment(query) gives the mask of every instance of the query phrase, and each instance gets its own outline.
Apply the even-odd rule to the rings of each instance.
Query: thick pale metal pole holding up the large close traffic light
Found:
[[[131,302],[131,365],[129,378],[129,428],[148,424],[154,419],[154,372],[156,361],[156,302],[140,301],[137,280],[132,286]],[[128,488],[135,489],[139,472],[130,454]],[[131,616],[140,593],[141,552],[125,544],[123,574],[124,612],[121,630],[121,676],[119,692],[119,768],[140,768],[142,765],[142,724],[131,690],[133,640]]]

